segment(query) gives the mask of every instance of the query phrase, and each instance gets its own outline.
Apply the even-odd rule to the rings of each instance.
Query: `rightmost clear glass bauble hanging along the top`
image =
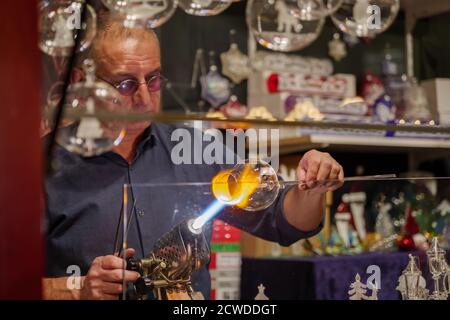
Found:
[[[342,32],[374,38],[391,26],[399,9],[399,0],[343,0],[331,20]]]

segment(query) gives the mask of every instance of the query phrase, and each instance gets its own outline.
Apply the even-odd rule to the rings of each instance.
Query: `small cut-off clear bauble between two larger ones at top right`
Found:
[[[286,2],[291,1],[297,2],[293,14],[301,20],[311,21],[335,12],[343,0],[286,0]]]

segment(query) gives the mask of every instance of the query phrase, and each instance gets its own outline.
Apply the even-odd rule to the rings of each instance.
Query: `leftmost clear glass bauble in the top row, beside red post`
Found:
[[[86,5],[86,21],[82,22],[83,5],[83,0],[40,2],[39,48],[44,53],[54,57],[70,56],[77,36],[82,37],[77,50],[83,52],[89,48],[96,34],[97,16],[95,10]]]

